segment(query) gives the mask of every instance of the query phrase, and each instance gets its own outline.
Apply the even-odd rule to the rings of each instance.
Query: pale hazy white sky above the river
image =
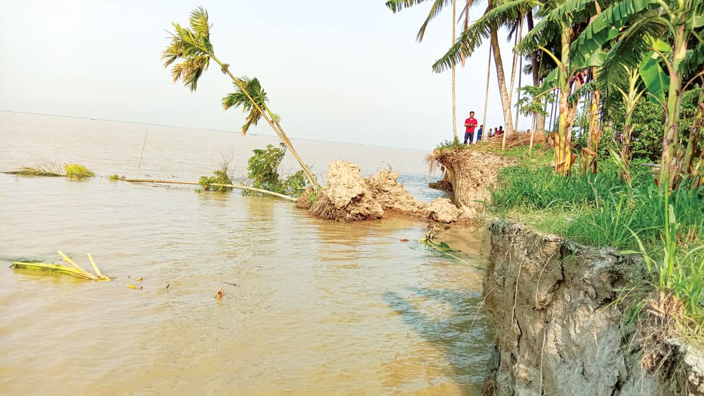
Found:
[[[196,6],[210,14],[215,54],[259,78],[289,137],[415,149],[451,139],[451,73],[431,66],[451,44],[452,11],[418,44],[429,4],[394,15],[384,0],[0,0],[0,110],[239,131],[242,113],[220,107],[232,85],[215,63],[194,93],[163,68],[165,29],[186,25]],[[484,46],[458,68],[460,138],[470,110],[482,123],[487,56]],[[491,74],[487,118],[497,126]],[[273,135],[265,123],[251,132]]]

